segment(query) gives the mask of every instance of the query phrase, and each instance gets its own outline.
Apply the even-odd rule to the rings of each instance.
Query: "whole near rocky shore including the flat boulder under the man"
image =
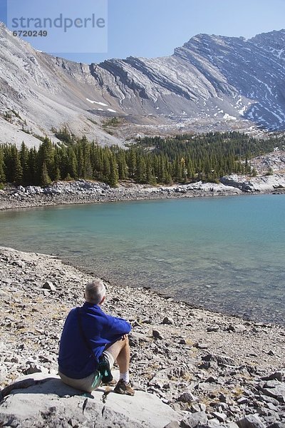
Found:
[[[104,310],[133,326],[137,401],[112,397],[103,404],[109,390],[76,395],[56,378],[63,322],[83,303],[90,275],[53,256],[9,248],[0,248],[0,269],[1,427],[93,427],[94,417],[96,427],[285,427],[284,327],[108,283]],[[26,393],[11,390],[24,375]],[[44,394],[36,376],[46,377]]]

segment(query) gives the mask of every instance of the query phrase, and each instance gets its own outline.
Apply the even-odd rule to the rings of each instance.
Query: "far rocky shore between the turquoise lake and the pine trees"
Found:
[[[78,180],[39,186],[7,187],[0,190],[0,210],[76,203],[103,203],[125,200],[193,198],[222,195],[285,193],[285,175],[276,173],[248,178],[229,175],[221,183],[152,186],[123,182],[118,188],[105,183]]]

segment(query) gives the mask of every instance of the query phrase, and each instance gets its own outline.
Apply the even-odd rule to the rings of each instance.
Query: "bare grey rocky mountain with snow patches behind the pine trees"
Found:
[[[51,136],[63,126],[103,144],[138,133],[285,129],[285,30],[249,40],[199,34],[172,56],[90,65],[36,51],[4,24],[0,42],[2,142],[32,144],[24,131]]]

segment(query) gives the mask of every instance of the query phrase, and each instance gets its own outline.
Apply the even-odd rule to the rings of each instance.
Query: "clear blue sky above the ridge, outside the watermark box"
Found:
[[[60,2],[49,4],[56,10]],[[96,0],[76,1],[81,14],[90,13],[92,3]],[[62,56],[86,63],[167,56],[199,33],[249,38],[284,27],[285,0],[108,0],[108,52]]]

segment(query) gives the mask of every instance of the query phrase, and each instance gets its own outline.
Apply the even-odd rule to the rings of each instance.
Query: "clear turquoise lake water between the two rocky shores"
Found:
[[[120,285],[261,322],[285,320],[285,195],[0,212],[0,245],[57,254]]]

